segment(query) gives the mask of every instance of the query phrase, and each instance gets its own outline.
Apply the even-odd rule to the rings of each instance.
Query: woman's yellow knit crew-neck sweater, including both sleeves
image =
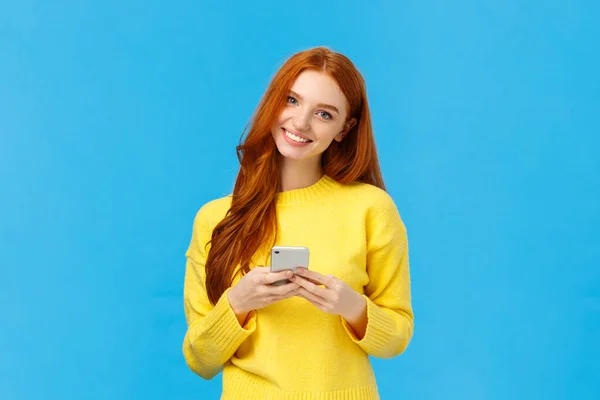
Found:
[[[244,326],[227,292],[210,304],[204,245],[230,205],[228,196],[200,209],[186,252],[183,354],[190,369],[205,379],[222,370],[227,400],[378,399],[368,356],[402,353],[413,333],[406,230],[391,197],[325,175],[277,199],[277,245],[308,247],[309,269],[342,279],[366,298],[360,340],[342,317],[300,297],[251,312]],[[269,257],[270,248],[259,250],[256,265],[270,265]]]

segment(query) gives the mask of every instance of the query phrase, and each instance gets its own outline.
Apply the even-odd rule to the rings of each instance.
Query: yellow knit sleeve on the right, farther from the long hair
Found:
[[[367,354],[395,357],[404,352],[412,338],[414,315],[406,228],[389,196],[367,215],[367,273],[364,337],[359,339],[345,320],[342,323]]]

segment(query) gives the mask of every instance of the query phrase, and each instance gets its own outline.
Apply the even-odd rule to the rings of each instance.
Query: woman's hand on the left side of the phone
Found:
[[[298,294],[299,285],[294,282],[281,286],[271,285],[293,276],[292,271],[271,272],[269,267],[255,267],[250,270],[228,293],[229,304],[240,322],[244,321],[248,313],[258,310],[280,300]]]

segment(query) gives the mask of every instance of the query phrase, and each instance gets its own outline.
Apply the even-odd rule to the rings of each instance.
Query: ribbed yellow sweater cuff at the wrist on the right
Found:
[[[367,300],[367,330],[365,336],[362,339],[358,338],[350,324],[343,318],[342,324],[354,343],[358,344],[366,353],[373,354],[373,352],[385,347],[392,338],[396,331],[395,321],[373,303],[368,296],[362,296]]]

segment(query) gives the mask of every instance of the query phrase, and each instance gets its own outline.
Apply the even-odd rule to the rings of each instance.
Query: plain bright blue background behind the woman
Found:
[[[384,399],[600,398],[594,1],[0,2],[0,398],[218,398],[184,251],[270,78],[367,81],[415,337]]]

